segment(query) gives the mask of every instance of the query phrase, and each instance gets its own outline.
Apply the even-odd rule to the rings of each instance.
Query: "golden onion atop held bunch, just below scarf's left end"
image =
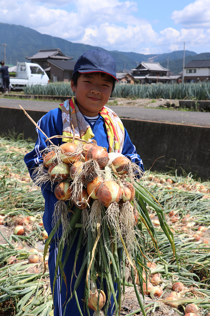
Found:
[[[76,144],[64,143],[60,146],[61,159],[65,163],[73,163],[81,159],[81,154],[77,153]]]

